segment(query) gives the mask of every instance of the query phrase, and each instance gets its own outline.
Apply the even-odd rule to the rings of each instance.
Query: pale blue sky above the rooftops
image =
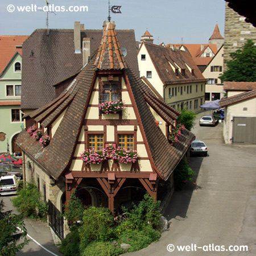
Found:
[[[54,13],[48,13],[49,28],[73,28],[74,22],[80,21],[87,29],[102,29],[109,15],[109,0],[48,2],[49,11],[54,9]],[[118,30],[133,29],[137,41],[148,30],[155,44],[205,44],[216,23],[224,36],[225,3],[224,0],[110,0],[110,6],[122,6],[122,13],[111,14],[111,20]],[[46,11],[46,0],[1,1],[0,35],[30,35],[37,28],[46,28],[47,12],[43,8]]]

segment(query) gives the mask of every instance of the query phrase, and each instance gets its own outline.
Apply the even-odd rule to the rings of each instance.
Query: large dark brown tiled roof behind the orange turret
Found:
[[[134,30],[116,30],[119,44],[126,48],[126,63],[138,72]],[[81,30],[90,38],[90,56],[98,50],[102,30]],[[72,77],[82,68],[82,54],[75,53],[74,30],[35,30],[23,44],[22,100],[23,110],[34,110],[55,98],[55,85]],[[31,75],[32,74],[32,75]]]

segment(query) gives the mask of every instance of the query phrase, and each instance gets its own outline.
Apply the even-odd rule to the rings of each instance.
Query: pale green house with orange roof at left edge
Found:
[[[22,43],[28,36],[0,36],[0,152],[21,152],[15,139],[24,126],[20,112]]]

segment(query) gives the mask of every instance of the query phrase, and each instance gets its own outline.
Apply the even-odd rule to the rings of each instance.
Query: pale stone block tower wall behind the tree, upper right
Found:
[[[245,22],[245,17],[240,16],[226,3],[225,14],[225,43],[224,43],[224,71],[226,71],[226,60],[230,60],[230,52],[241,48],[247,39],[256,43],[256,28]]]

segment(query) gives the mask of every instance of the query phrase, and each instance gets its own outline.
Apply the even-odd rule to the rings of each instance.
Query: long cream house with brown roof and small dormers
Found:
[[[143,42],[138,63],[140,76],[146,77],[172,108],[196,112],[204,103],[206,80],[189,52]]]

